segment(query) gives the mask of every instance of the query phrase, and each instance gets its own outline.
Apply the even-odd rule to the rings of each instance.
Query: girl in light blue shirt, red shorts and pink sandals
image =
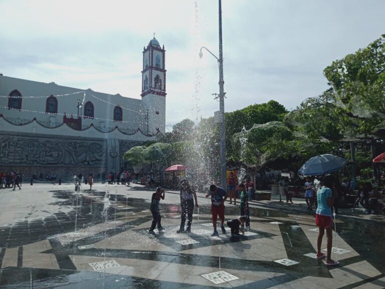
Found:
[[[334,205],[334,197],[332,188],[334,186],[334,177],[328,175],[322,180],[322,187],[317,192],[317,210],[315,214],[315,223],[318,226],[317,238],[317,258],[322,259],[325,253],[321,252],[322,238],[326,230],[326,265],[338,265],[338,261],[331,259],[331,247],[333,242],[333,219],[332,207]]]

